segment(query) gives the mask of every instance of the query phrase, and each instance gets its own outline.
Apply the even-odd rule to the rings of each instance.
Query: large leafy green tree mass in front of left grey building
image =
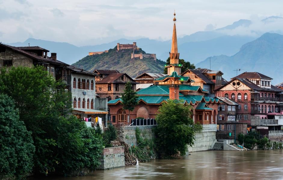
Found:
[[[70,93],[66,93],[65,85],[56,82],[44,67],[12,67],[9,72],[2,69],[0,91],[14,99],[13,108],[19,112],[17,121],[25,125],[32,136],[35,146],[32,173],[78,175],[100,164],[102,137],[71,115]],[[8,151],[1,152],[8,154]],[[23,155],[24,146],[17,153]]]

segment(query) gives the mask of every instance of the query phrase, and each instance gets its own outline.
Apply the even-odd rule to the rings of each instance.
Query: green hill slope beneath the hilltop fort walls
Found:
[[[131,77],[136,77],[144,72],[163,73],[164,61],[158,59],[155,61],[154,58],[131,59],[132,52],[133,49],[117,51],[117,46],[115,46],[114,49],[109,49],[108,52],[88,55],[72,65],[89,71],[94,69],[118,70],[121,73],[127,73]],[[139,53],[146,52],[142,49],[135,50],[135,54]]]

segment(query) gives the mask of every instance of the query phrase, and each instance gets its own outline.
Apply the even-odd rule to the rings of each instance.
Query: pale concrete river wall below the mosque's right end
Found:
[[[189,152],[206,151],[213,149],[216,143],[217,125],[202,125],[202,131],[195,134],[195,145],[188,148]]]

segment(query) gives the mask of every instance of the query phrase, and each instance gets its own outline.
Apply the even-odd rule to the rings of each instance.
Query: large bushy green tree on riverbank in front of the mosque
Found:
[[[179,152],[185,155],[188,146],[194,144],[195,132],[200,131],[202,126],[193,123],[191,110],[191,106],[177,100],[168,100],[159,107],[155,135],[161,158],[170,158]]]

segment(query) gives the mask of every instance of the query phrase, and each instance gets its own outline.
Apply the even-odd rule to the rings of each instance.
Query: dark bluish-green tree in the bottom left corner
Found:
[[[31,173],[32,143],[13,100],[0,94],[0,179],[21,179]]]

